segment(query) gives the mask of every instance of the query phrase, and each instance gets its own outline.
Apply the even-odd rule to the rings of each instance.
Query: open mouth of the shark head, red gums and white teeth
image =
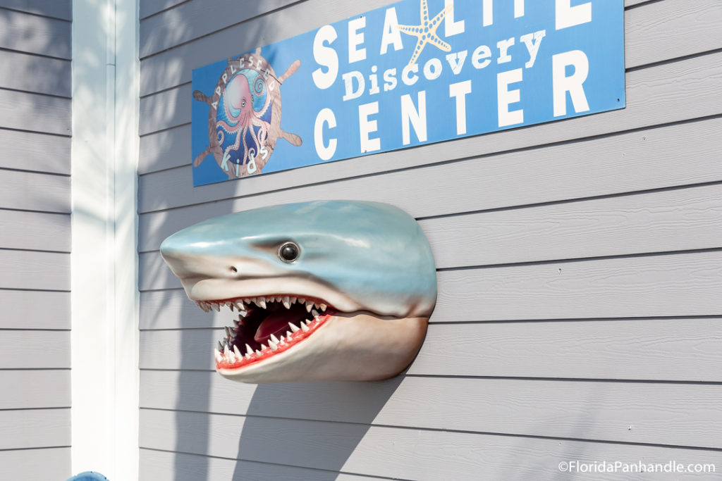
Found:
[[[238,312],[214,349],[216,369],[242,369],[266,361],[313,335],[336,309],[326,301],[287,294],[196,301],[204,312],[223,306]]]

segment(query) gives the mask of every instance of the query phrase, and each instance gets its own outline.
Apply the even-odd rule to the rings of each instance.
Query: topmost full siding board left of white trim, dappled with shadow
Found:
[[[65,20],[0,9],[0,32],[0,48],[70,59],[71,23]]]

